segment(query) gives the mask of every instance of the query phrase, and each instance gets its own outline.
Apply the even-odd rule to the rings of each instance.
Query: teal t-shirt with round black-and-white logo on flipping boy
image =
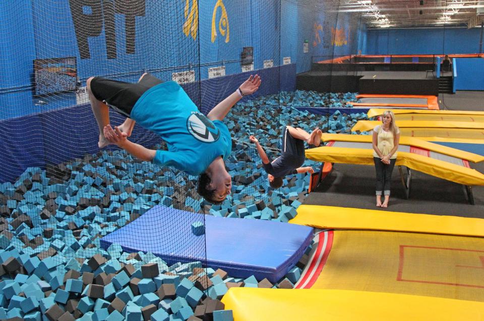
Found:
[[[226,159],[230,155],[232,141],[227,126],[200,113],[176,82],[147,90],[133,107],[131,118],[168,145],[168,151],[156,151],[156,164],[199,175],[218,156]]]

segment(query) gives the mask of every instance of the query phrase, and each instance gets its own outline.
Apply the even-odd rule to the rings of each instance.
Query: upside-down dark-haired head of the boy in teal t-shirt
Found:
[[[226,171],[204,172],[198,178],[197,192],[212,204],[221,204],[232,189],[232,177]]]

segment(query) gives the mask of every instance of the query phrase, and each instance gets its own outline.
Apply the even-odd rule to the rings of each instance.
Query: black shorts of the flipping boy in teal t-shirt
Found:
[[[91,80],[91,91],[97,100],[104,102],[117,112],[130,117],[131,110],[145,91],[162,82],[150,74],[144,75],[136,84],[94,77]]]

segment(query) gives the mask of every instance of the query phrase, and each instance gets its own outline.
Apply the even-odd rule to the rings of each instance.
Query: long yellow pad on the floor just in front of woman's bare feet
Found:
[[[484,237],[484,220],[336,206],[301,205],[292,224],[321,229],[379,230]]]

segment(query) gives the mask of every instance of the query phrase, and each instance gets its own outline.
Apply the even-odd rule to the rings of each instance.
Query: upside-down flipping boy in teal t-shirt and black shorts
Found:
[[[176,82],[164,83],[147,73],[136,84],[91,77],[87,90],[99,127],[98,146],[115,144],[143,161],[200,175],[199,194],[219,204],[232,187],[224,163],[232,141],[222,120],[240,98],[253,94],[260,85],[260,77],[251,75],[205,116]],[[114,129],[109,124],[108,105],[127,117]],[[147,149],[130,142],[135,122],[159,135],[168,150]]]

